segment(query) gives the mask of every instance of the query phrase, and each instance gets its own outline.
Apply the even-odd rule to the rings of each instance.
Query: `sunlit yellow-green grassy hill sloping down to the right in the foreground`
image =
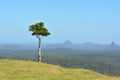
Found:
[[[20,60],[0,60],[0,80],[120,80],[85,69]]]

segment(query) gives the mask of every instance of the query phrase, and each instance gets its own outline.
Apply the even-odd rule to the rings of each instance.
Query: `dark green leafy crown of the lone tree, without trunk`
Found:
[[[29,26],[29,31],[32,31],[32,35],[41,35],[41,36],[48,36],[50,32],[44,27],[43,22],[39,22]]]

